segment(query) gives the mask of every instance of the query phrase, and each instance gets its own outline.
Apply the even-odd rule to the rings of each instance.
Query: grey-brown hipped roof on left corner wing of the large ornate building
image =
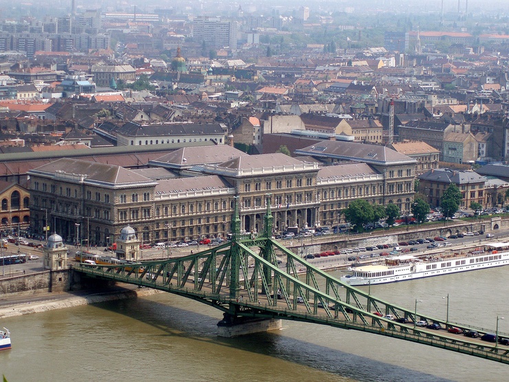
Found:
[[[151,179],[118,165],[62,158],[28,171],[32,175],[50,176],[67,181],[102,184],[104,187],[131,187],[155,184]]]

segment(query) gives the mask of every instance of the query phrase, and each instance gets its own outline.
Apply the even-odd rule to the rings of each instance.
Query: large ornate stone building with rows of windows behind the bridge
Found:
[[[105,245],[127,224],[142,242],[224,237],[237,201],[241,229],[253,233],[263,229],[267,202],[277,231],[338,224],[342,209],[358,198],[408,211],[415,160],[347,143],[371,163],[335,158],[322,167],[282,153],[248,156],[226,145],[179,149],[136,170],[63,158],[29,171],[32,226],[42,231],[47,210],[64,240]]]

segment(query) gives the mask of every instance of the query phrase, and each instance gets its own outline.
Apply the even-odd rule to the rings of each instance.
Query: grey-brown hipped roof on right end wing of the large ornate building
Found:
[[[371,165],[415,162],[415,159],[389,149],[389,147],[339,140],[324,140],[315,145],[296,150],[295,153],[297,155],[309,155],[319,158],[356,160]]]

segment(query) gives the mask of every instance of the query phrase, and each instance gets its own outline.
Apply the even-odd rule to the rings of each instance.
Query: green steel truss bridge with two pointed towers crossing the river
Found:
[[[509,363],[509,346],[452,334],[450,322],[403,308],[349,286],[316,268],[272,240],[268,205],[263,234],[240,234],[237,206],[232,240],[185,257],[127,265],[77,264],[89,277],[164,290],[195,299],[224,312],[220,323],[246,319],[288,319],[361,330],[435,346],[501,363]],[[281,264],[281,268],[279,265]],[[284,266],[284,268],[283,268]],[[407,323],[385,319],[393,315]],[[442,330],[416,326],[420,320],[440,323]],[[219,324],[218,324],[219,325]],[[455,323],[463,330],[477,330]]]

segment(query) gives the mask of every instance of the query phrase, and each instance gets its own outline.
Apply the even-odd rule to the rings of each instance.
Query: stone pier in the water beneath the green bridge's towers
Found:
[[[217,323],[219,337],[238,337],[258,332],[281,329],[281,319],[257,319],[251,317],[232,316],[224,313],[223,319]]]

